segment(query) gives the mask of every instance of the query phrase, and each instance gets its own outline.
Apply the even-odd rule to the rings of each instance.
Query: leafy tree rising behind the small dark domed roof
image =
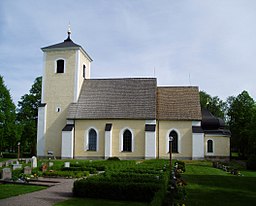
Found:
[[[214,116],[225,119],[225,102],[217,96],[211,97],[204,91],[200,91],[201,108],[207,108]]]

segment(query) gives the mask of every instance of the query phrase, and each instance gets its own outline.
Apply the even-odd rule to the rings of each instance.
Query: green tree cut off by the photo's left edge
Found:
[[[0,76],[0,151],[13,151],[17,143],[15,104]]]

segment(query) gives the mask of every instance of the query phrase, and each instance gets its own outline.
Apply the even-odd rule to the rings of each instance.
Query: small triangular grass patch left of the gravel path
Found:
[[[0,199],[46,189],[44,186],[0,184]]]

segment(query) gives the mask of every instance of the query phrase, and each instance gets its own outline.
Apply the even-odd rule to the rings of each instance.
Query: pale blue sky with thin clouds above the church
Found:
[[[63,42],[69,23],[91,78],[256,100],[255,0],[0,0],[0,75],[16,105],[43,74],[41,48]]]

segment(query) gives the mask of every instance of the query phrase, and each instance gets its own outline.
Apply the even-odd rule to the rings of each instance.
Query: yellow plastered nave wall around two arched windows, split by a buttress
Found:
[[[75,158],[103,158],[105,155],[105,125],[112,123],[112,156],[120,158],[143,158],[145,155],[144,120],[76,120],[75,121]],[[85,150],[85,138],[90,128],[99,135],[98,151]],[[120,151],[120,135],[130,129],[133,135],[133,152]]]

